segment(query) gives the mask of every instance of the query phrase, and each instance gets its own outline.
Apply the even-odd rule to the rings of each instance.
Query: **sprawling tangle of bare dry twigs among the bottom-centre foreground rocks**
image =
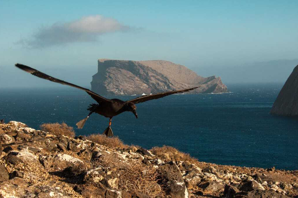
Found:
[[[164,197],[165,192],[158,184],[159,173],[153,166],[145,166],[139,161],[119,161],[113,156],[104,156],[93,161],[93,168],[108,167],[118,177],[119,189],[125,191],[139,191],[150,197]]]

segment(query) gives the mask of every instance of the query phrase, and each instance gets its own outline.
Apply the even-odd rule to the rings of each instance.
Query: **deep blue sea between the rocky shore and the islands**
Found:
[[[199,161],[297,170],[298,118],[269,114],[282,85],[228,85],[230,93],[175,94],[137,104],[138,119],[124,112],[113,118],[111,127],[124,143],[147,149],[169,145]],[[62,121],[76,128],[94,102],[84,91],[68,87],[0,89],[0,119],[35,129]],[[102,133],[107,126],[108,118],[92,114],[75,131]]]

